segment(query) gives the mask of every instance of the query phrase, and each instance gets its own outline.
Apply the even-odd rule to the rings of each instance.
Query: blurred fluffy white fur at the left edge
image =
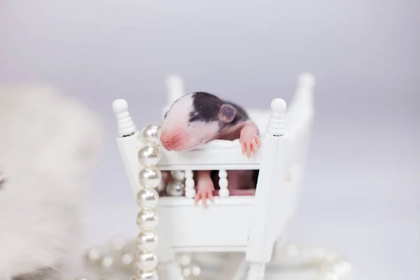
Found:
[[[0,280],[66,274],[100,133],[94,114],[51,88],[0,88]]]

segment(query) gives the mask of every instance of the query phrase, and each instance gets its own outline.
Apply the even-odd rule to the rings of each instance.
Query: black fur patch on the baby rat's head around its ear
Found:
[[[202,121],[204,123],[218,122],[221,130],[223,128],[236,125],[237,123],[248,120],[248,114],[237,104],[227,102],[216,97],[216,95],[209,92],[194,92],[193,93],[193,111],[190,112],[190,122]],[[222,123],[219,120],[219,112],[223,104],[230,104],[236,110],[235,118],[230,123]],[[227,111],[226,113],[230,113]],[[233,112],[232,112],[233,113]]]

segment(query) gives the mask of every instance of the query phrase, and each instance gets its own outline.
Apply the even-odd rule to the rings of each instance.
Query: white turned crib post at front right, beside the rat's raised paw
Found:
[[[246,249],[249,262],[248,280],[264,279],[265,264],[272,258],[274,242],[279,236],[279,223],[286,220],[281,216],[283,195],[283,169],[286,134],[284,112],[286,102],[274,99],[267,133],[262,141],[260,174],[253,204],[251,229]],[[284,214],[283,214],[284,215]]]

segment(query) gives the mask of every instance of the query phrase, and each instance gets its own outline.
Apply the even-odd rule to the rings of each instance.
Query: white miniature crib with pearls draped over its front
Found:
[[[184,94],[182,80],[167,81],[168,99],[162,114]],[[271,110],[247,109],[262,132],[262,146],[248,159],[239,140],[214,140],[192,151],[165,151],[158,143],[158,126],[139,132],[127,102],[117,99],[118,148],[137,203],[141,234],[137,279],[183,279],[175,262],[177,252],[245,252],[248,280],[264,279],[265,265],[274,244],[293,216],[314,116],[314,77],[303,73],[286,111],[283,99],[274,99]],[[148,155],[151,160],[144,160]],[[157,188],[162,170],[185,172],[185,195],[160,197]],[[219,171],[221,190],[207,209],[195,206],[193,171]],[[259,169],[255,196],[230,196],[226,170]],[[159,222],[159,223],[158,223]],[[156,237],[157,236],[157,237]],[[156,253],[153,253],[153,252]]]

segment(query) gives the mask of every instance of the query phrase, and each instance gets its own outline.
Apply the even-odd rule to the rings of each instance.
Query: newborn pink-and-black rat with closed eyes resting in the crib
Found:
[[[239,139],[244,156],[251,157],[261,145],[258,126],[246,111],[209,92],[192,92],[177,99],[165,113],[160,127],[160,141],[167,151],[187,151],[214,139]],[[255,194],[258,170],[228,170],[230,195]],[[164,176],[169,183],[170,176]],[[213,201],[217,194],[218,172],[195,172],[195,202]]]

